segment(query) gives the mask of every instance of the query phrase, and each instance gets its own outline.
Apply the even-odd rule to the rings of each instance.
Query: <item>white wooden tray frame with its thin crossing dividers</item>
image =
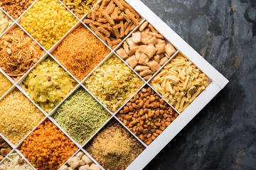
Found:
[[[206,106],[207,103],[210,102],[210,100],[216,95],[218,94],[218,92],[224,88],[224,86],[226,84],[228,84],[228,79],[225,79],[225,77],[223,77],[222,74],[220,74],[220,72],[218,72],[216,69],[214,69],[206,60],[203,59],[203,57],[201,57],[201,55],[198,54],[198,52],[196,52],[196,50],[193,50],[193,48],[188,45],[188,43],[186,43],[180,36],[178,36],[174,30],[172,30],[171,28],[169,28],[169,26],[166,25],[166,23],[164,23],[164,21],[161,21],[161,19],[156,16],[156,14],[154,14],[147,6],[145,6],[142,1],[139,0],[125,0],[127,1],[128,4],[130,4],[141,16],[142,16],[142,22],[143,21],[149,21],[149,23],[151,23],[152,26],[154,26],[154,28],[156,28],[156,30],[159,31],[159,33],[161,33],[162,35],[164,35],[164,37],[166,38],[166,40],[168,40],[169,42],[171,42],[175,47],[177,52],[172,56],[174,57],[178,52],[181,52],[184,56],[186,56],[188,58],[188,60],[191,60],[191,62],[193,62],[193,64],[196,65],[196,67],[198,67],[199,69],[201,69],[201,71],[203,73],[205,73],[207,75],[207,77],[210,79],[210,84],[208,85],[208,87],[206,88],[206,90],[204,90],[182,113],[179,113],[178,117],[176,118],[176,120],[174,120],[173,123],[171,123],[171,125],[168,126],[168,128],[166,128],[166,130],[164,130],[164,132],[161,133],[161,135],[159,135],[159,137],[156,138],[156,140],[154,140],[149,146],[145,145],[142,140],[139,139],[139,137],[137,137],[136,135],[134,135],[128,128],[126,128],[124,126],[124,124],[116,117],[116,113],[118,113],[118,111],[116,111],[115,113],[110,112],[102,103],[102,106],[110,112],[110,114],[112,115],[111,118],[109,120],[107,120],[107,122],[105,123],[105,125],[111,120],[111,119],[116,119],[119,121],[119,123],[121,123],[124,128],[126,128],[129,132],[132,133],[132,135],[134,135],[134,137],[137,138],[137,140],[139,140],[139,142],[142,142],[142,144],[146,147],[146,149],[144,149],[144,151],[142,152],[142,154],[139,155],[139,157],[137,157],[137,159],[134,160],[134,162],[132,162],[132,164],[130,164],[127,169],[129,170],[135,170],[135,169],[143,169],[144,166],[146,166],[146,164],[148,164],[151,159],[153,159],[156,154],[158,154],[161,149],[163,149],[177,134],[178,132],[180,132],[200,111],[201,109]],[[36,2],[34,2],[33,4],[35,4]],[[100,4],[101,1],[98,2],[98,4]],[[29,8],[28,8],[29,9]],[[68,9],[68,8],[67,8]],[[2,10],[2,9],[0,9]],[[69,9],[68,9],[69,10]],[[70,11],[70,10],[69,10]],[[71,12],[71,11],[70,11]],[[26,11],[25,11],[26,13]],[[7,14],[7,13],[6,13]],[[8,14],[7,14],[8,15]],[[9,16],[9,15],[8,15]],[[86,16],[86,15],[85,15]],[[78,26],[80,26],[80,24],[84,25],[87,29],[89,29],[92,33],[93,31],[85,25],[85,23],[82,23],[82,20],[85,18],[82,17],[81,19],[78,18],[78,23],[75,24],[75,26],[73,26],[73,28],[71,28],[68,33],[72,32],[75,28],[78,28]],[[12,30],[14,28],[16,28],[17,26],[21,27],[19,25],[19,22],[21,20],[21,17],[18,18],[16,21],[14,21],[14,24],[5,31],[5,33],[7,33],[9,30]],[[142,24],[142,22],[140,24]],[[138,28],[139,26],[137,26]],[[22,28],[22,27],[21,27]],[[134,30],[137,30],[137,28],[134,28]],[[26,30],[23,29],[25,32]],[[134,30],[132,31],[132,33],[134,32]],[[27,32],[26,32],[27,33]],[[56,49],[56,47],[58,47],[58,45],[62,42],[62,40],[68,35],[68,33],[66,33],[63,38],[61,38],[50,50],[46,50],[45,48],[43,48],[43,50],[46,50],[46,55],[44,55],[41,60],[38,61],[38,63],[40,63],[41,61],[43,61],[46,57],[52,57],[56,62],[58,62],[58,60],[56,60],[53,55],[51,55],[51,53]],[[126,38],[128,38],[132,33],[129,33],[129,35],[127,35]],[[4,33],[3,33],[4,34]],[[27,33],[28,34],[28,33]],[[28,34],[29,35],[29,34]],[[94,35],[99,38],[95,33]],[[31,37],[32,38],[32,37]],[[126,39],[124,38],[124,40]],[[99,38],[100,39],[100,38]],[[35,40],[33,38],[33,40]],[[122,42],[124,41],[122,40]],[[102,40],[101,40],[102,41]],[[105,45],[107,45],[104,41],[102,41]],[[105,62],[105,60],[107,60],[107,58],[109,58],[110,56],[112,56],[113,54],[117,55],[116,50],[120,47],[120,45],[122,45],[122,42],[117,45],[117,47],[114,48],[114,50],[111,50],[110,54],[106,55],[105,59],[102,60],[102,62],[100,62],[100,64],[98,64],[97,67],[99,67],[102,63]],[[38,43],[39,44],[39,43]],[[171,57],[171,58],[172,58]],[[168,62],[171,60],[171,58],[168,60]],[[121,59],[121,58],[120,58]],[[122,60],[124,62],[124,60]],[[168,63],[166,62],[166,63]],[[38,64],[37,63],[37,64]],[[58,62],[58,64],[60,64],[60,62]],[[164,64],[165,65],[165,64]],[[163,68],[164,65],[161,67]],[[26,95],[28,98],[29,96],[26,94],[26,91],[24,91],[21,87],[21,83],[23,81],[23,79],[26,78],[26,76],[29,74],[29,72],[31,72],[31,70],[35,67],[36,65],[34,65],[31,69],[28,70],[28,72],[26,72],[26,74],[24,74],[23,77],[21,77],[21,79],[19,79],[16,83],[11,79],[11,77],[9,77],[2,69],[0,69],[0,72],[3,73],[6,77],[8,77],[8,79],[14,84],[14,86],[11,87],[11,89],[9,89],[9,91],[6,92],[6,94],[4,94],[4,96],[6,96],[7,94],[9,94],[10,91],[18,88],[21,92],[23,92],[24,95]],[[60,64],[61,67],[63,67],[62,64]],[[127,64],[127,66],[129,67],[129,64]],[[97,69],[97,67],[95,67],[95,69]],[[131,67],[130,67],[131,68]],[[63,67],[63,69],[65,69],[65,67]],[[93,69],[92,72],[95,70]],[[132,68],[131,68],[132,69]],[[161,69],[159,69],[160,71]],[[68,72],[67,69],[65,69],[66,72]],[[158,71],[158,72],[159,72]],[[91,73],[92,73],[91,72]],[[156,72],[156,74],[158,73]],[[68,72],[70,74],[70,72]],[[90,73],[90,74],[91,74]],[[137,72],[135,72],[137,74]],[[90,74],[87,76],[89,77]],[[156,75],[154,74],[154,75]],[[78,81],[78,79],[76,79],[72,74],[70,74],[71,77],[73,77],[73,79],[75,79],[76,81]],[[139,76],[139,74],[137,74]],[[87,79],[87,77],[85,77],[85,79]],[[68,94],[68,96],[70,96],[71,94],[74,93],[75,90],[77,90],[79,87],[84,88],[86,91],[88,91],[90,93],[90,91],[88,89],[85,88],[85,86],[83,85],[83,83],[85,82],[85,79],[82,81],[78,81],[78,86],[75,87],[75,89],[73,89],[73,91],[70,92],[70,94]],[[149,79],[150,81],[151,79]],[[143,79],[144,81],[144,79]],[[144,85],[149,85],[149,81],[144,81]],[[149,85],[150,86],[150,85]],[[143,88],[143,86],[141,87],[141,89]],[[153,89],[153,88],[152,88]],[[92,93],[90,93],[91,96]],[[157,93],[158,94],[158,93]],[[0,100],[2,98],[4,98],[4,96],[0,96]],[[68,96],[66,98],[68,98]],[[159,96],[161,96],[159,94]],[[93,96],[98,102],[100,102],[95,96]],[[63,101],[65,101],[65,99],[63,99]],[[60,102],[58,104],[58,106],[61,105]],[[129,101],[129,100],[128,100]],[[127,101],[127,102],[128,102]],[[33,101],[31,101],[32,103],[34,103]],[[127,103],[126,102],[126,103]],[[124,103],[124,105],[126,104]],[[67,132],[65,132],[63,130],[63,128],[61,128],[60,125],[58,125],[58,123],[55,122],[55,120],[51,117],[51,115],[53,115],[53,113],[58,109],[58,106],[56,106],[53,111],[51,111],[49,114],[46,113],[45,111],[43,111],[43,109],[38,106],[36,103],[34,103],[45,115],[46,118],[49,118],[51,121],[53,121],[53,123],[55,123],[55,125],[58,126],[58,128],[60,128],[60,130],[62,130],[65,135],[67,135],[70,140],[72,140],[73,142],[75,142],[75,140],[73,140],[72,137],[70,137],[70,135],[68,135]],[[123,106],[124,106],[123,105]],[[122,106],[122,107],[123,107]],[[44,120],[46,120],[46,118],[44,118],[42,120],[42,122]],[[41,122],[41,123],[42,123]],[[102,128],[104,128],[104,126],[102,126]],[[97,132],[99,132],[102,128],[100,128],[99,130],[97,130]],[[35,130],[36,127],[33,129]],[[32,130],[32,131],[33,131]],[[32,132],[31,131],[31,132]],[[1,133],[0,133],[1,135]],[[85,145],[87,145],[87,143],[94,137],[95,135],[93,135],[92,137],[90,137],[90,139],[85,142],[84,145],[79,145],[78,142],[75,142],[75,145],[77,145],[79,147],[79,150],[82,150],[83,152],[85,152],[98,166],[100,166],[100,164],[98,164],[95,159],[93,159],[89,153],[87,153],[85,151],[85,149],[83,148]],[[4,137],[3,135],[1,135],[1,137]],[[9,140],[6,139],[6,137],[4,137],[4,139],[6,140],[6,142],[9,143],[9,145],[11,145],[11,147],[13,147],[16,152],[18,152],[19,154],[21,154],[21,152],[18,151],[18,147],[21,146],[23,140],[18,144],[18,145],[13,145],[11,142],[9,142]],[[78,151],[79,151],[78,150]],[[23,154],[21,154],[21,156],[23,157]],[[23,159],[26,159],[25,157],[23,157]],[[3,160],[4,161],[4,160]],[[3,162],[1,161],[1,162]],[[27,161],[27,159],[26,159]],[[0,162],[0,164],[1,164]],[[101,169],[104,169],[102,166],[100,166]]]

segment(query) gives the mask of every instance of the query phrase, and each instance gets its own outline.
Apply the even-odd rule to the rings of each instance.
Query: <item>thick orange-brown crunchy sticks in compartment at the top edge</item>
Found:
[[[125,1],[105,0],[89,11],[83,22],[106,41],[107,45],[114,48],[122,42],[125,35],[139,26],[141,19],[139,13]]]

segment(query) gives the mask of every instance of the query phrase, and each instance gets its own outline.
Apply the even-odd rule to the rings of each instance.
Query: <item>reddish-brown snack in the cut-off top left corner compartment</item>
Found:
[[[12,18],[18,19],[18,17],[33,4],[33,1],[35,0],[4,0],[0,2],[0,6]]]

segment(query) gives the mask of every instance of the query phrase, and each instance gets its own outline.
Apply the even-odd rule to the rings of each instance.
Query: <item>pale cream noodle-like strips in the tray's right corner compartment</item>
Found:
[[[182,112],[208,86],[208,77],[191,61],[178,53],[164,69],[150,81],[177,111]]]

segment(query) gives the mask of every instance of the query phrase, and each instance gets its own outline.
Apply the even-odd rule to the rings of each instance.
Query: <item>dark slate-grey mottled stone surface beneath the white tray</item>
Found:
[[[256,169],[256,1],[142,1],[230,80],[145,170]]]

